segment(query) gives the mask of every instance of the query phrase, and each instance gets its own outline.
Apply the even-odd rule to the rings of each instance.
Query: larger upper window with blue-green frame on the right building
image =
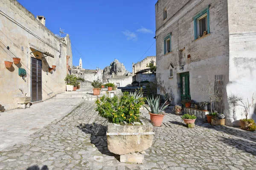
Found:
[[[210,6],[193,17],[195,40],[210,33],[209,7]]]

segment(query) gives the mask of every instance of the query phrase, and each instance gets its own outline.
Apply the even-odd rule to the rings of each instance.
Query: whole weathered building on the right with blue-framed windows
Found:
[[[185,97],[209,101],[199,86],[208,78],[217,79],[226,124],[244,118],[241,108],[236,108],[236,115],[230,110],[231,94],[242,96],[244,102],[249,99],[250,117],[256,120],[255,9],[255,0],[158,0],[157,93],[172,91],[172,104]]]

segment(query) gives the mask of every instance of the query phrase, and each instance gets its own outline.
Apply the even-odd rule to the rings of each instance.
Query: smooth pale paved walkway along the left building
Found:
[[[0,112],[0,151],[17,143],[29,143],[29,136],[73,111],[83,99],[49,99],[30,108]]]

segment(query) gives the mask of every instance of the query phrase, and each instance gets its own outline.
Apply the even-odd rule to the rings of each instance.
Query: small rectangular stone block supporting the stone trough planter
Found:
[[[120,155],[120,162],[130,163],[130,164],[143,164],[144,155],[141,153],[130,153],[125,155]]]

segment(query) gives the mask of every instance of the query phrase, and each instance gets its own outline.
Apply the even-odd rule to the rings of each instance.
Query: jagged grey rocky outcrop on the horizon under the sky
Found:
[[[111,75],[114,73],[117,76],[127,75],[129,72],[126,71],[123,63],[115,59],[111,64],[104,68],[103,75]]]

